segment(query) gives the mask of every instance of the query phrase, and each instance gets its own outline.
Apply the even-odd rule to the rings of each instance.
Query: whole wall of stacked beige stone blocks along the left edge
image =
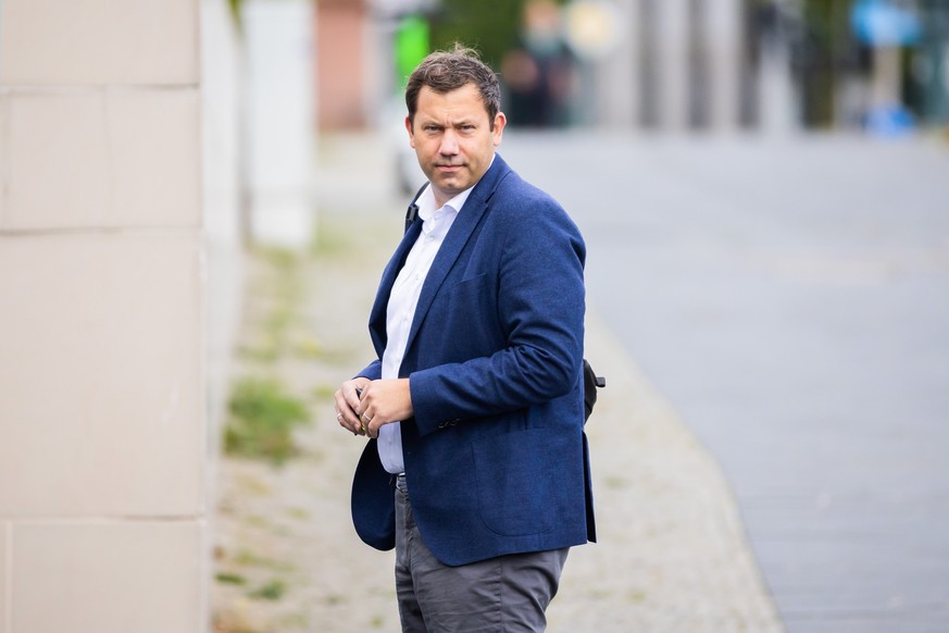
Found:
[[[0,632],[204,632],[199,0],[0,3]]]

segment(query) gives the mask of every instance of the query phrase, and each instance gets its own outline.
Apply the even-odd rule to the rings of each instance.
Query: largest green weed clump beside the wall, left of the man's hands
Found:
[[[309,422],[307,405],[276,381],[246,377],[234,386],[224,430],[228,455],[280,464],[296,451],[294,429]]]

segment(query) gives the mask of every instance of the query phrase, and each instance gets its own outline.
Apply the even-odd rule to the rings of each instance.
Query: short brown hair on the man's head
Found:
[[[488,122],[495,128],[495,116],[501,111],[501,87],[498,77],[479,58],[477,51],[455,44],[450,51],[436,51],[412,72],[405,86],[405,105],[409,121],[415,123],[419,109],[419,92],[428,86],[438,94],[457,90],[467,84],[474,85],[482,96]]]

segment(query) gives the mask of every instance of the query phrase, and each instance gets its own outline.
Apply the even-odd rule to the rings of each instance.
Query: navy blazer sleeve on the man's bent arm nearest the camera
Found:
[[[492,211],[479,243],[497,262],[496,313],[503,345],[410,375],[415,423],[432,433],[465,421],[539,405],[577,388],[583,362],[584,260],[579,231],[546,195]],[[582,420],[582,418],[580,418]]]

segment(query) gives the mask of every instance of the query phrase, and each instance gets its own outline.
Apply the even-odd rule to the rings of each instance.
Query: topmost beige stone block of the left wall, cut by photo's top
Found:
[[[0,85],[196,84],[197,0],[3,0]]]

